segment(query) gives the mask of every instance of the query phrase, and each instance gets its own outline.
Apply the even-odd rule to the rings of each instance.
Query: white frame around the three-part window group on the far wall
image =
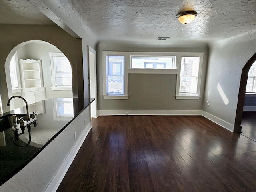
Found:
[[[199,99],[200,98],[200,86],[202,77],[202,62],[203,53],[184,53],[184,52],[114,52],[103,51],[103,98],[104,99],[128,99],[128,74],[177,74],[176,79],[176,99]],[[124,95],[107,95],[106,87],[106,56],[107,55],[124,55]],[[174,57],[175,68],[172,69],[148,69],[148,68],[131,68],[132,56],[170,56]],[[182,56],[198,56],[199,59],[199,72],[197,82],[196,94],[180,94],[180,70],[181,70],[181,58]]]

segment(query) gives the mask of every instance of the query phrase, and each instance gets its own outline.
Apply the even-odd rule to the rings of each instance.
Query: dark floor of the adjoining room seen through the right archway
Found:
[[[256,111],[244,111],[241,125],[241,134],[256,141]]]

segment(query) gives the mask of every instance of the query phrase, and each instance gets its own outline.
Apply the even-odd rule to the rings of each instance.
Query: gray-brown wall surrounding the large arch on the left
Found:
[[[30,40],[50,42],[67,56],[72,66],[73,94],[84,98],[84,64],[81,39],[73,38],[58,26],[47,25],[31,26],[1,24],[0,32],[0,92],[3,103],[3,112],[9,110],[9,107],[5,106],[9,98],[4,69],[5,63],[6,61],[10,62],[12,55],[18,48],[24,46],[24,44]]]

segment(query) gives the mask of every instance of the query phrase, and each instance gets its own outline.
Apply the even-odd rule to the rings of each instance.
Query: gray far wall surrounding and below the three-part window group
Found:
[[[176,100],[176,74],[128,74],[128,99],[103,99],[103,51],[133,52],[203,52],[202,81],[199,100]],[[208,59],[207,44],[183,44],[172,47],[143,46],[99,42],[97,52],[98,110],[202,110]]]

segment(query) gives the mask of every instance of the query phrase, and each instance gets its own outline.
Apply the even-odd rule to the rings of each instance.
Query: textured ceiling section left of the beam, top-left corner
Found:
[[[26,0],[0,0],[0,23],[54,25]]]

